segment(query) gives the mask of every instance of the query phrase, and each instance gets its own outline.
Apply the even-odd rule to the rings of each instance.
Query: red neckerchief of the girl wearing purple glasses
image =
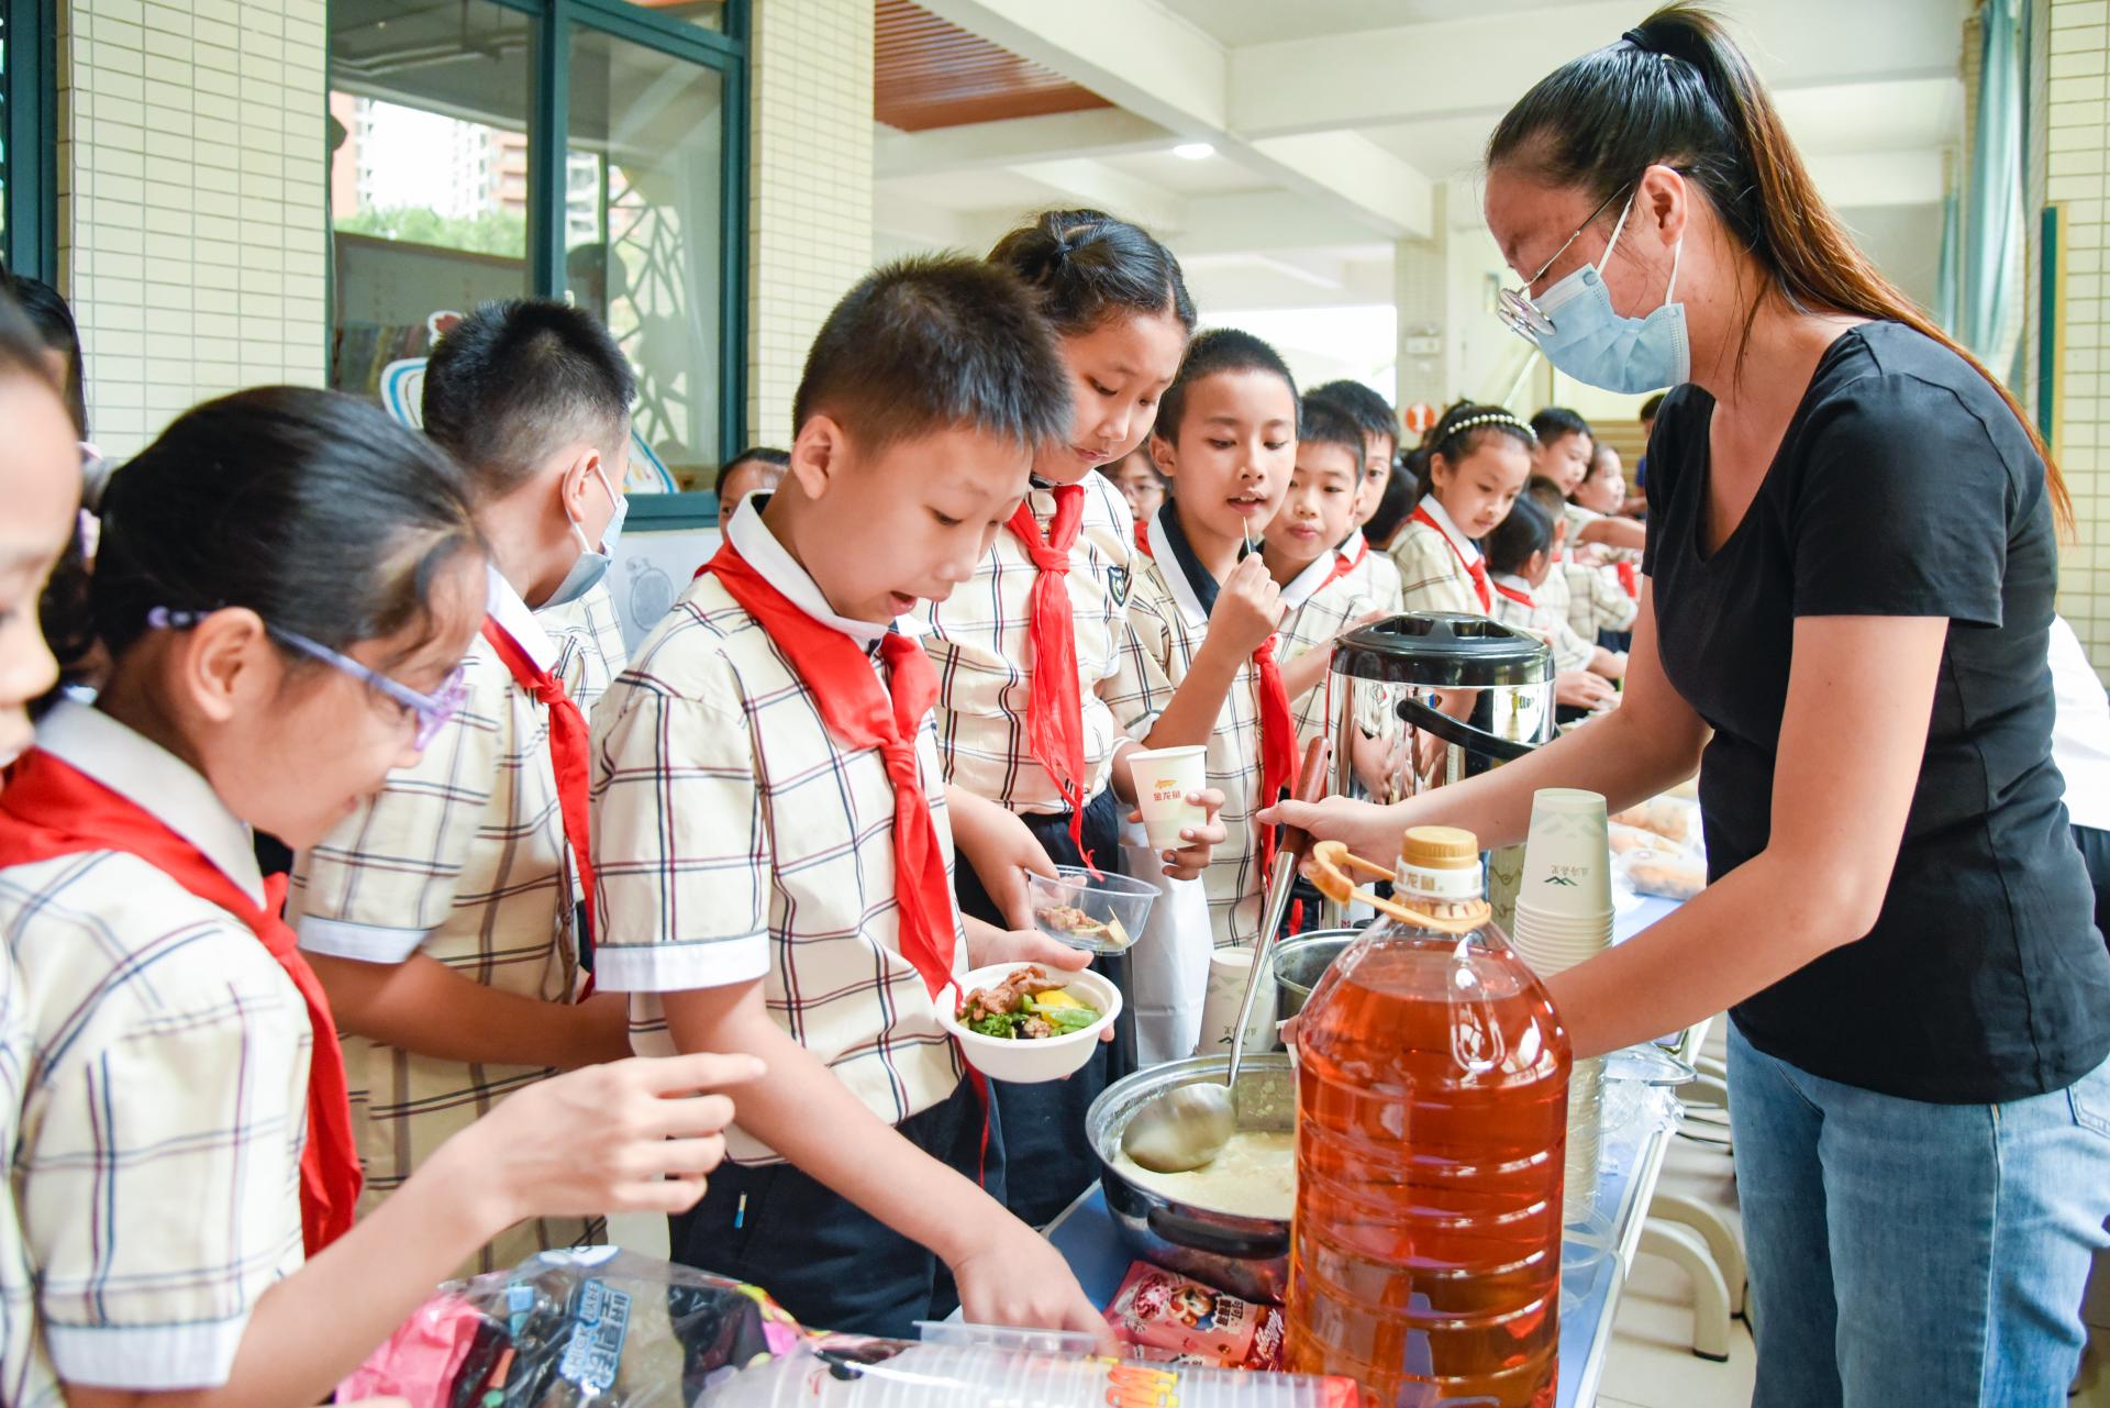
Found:
[[[65,760],[30,749],[0,792],[0,865],[32,865],[61,855],[122,851],[219,906],[257,935],[308,1005],[314,1051],[308,1055],[308,1140],[300,1150],[300,1239],[314,1256],[352,1226],[359,1205],[359,1146],[344,1081],[344,1049],[329,996],[279,916],[285,876],[264,884],[264,908],[150,811]],[[171,1070],[181,1079],[184,1072]]]

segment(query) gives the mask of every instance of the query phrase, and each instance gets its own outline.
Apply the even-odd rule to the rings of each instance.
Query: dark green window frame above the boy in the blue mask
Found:
[[[23,0],[0,0],[21,4]],[[722,84],[720,167],[720,317],[717,460],[728,462],[747,433],[747,40],[749,2],[724,0],[722,27],[658,15],[627,0],[490,0],[534,19],[528,103],[528,287],[536,298],[565,293],[565,150],[570,141],[572,40],[601,32],[667,57],[709,68]],[[646,507],[654,500],[652,507]],[[631,521],[656,528],[715,524],[709,492],[637,494]]]

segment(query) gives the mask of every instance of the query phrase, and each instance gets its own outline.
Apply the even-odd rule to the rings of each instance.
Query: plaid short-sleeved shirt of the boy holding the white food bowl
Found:
[[[874,661],[886,625],[848,621],[743,502],[728,538],[814,621]],[[916,737],[952,872],[937,728]],[[899,1125],[962,1068],[901,954],[895,787],[878,747],[846,751],[762,625],[698,576],[637,648],[593,724],[595,982],[631,994],[631,1045],[671,1055],[660,994],[762,982],[770,1017],[865,1108]],[[954,914],[954,973],[966,937]],[[732,1125],[736,1163],[783,1163]]]

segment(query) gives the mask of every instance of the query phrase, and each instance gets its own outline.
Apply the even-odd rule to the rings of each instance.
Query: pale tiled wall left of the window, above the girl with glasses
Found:
[[[59,4],[59,279],[108,454],[323,382],[323,4]]]

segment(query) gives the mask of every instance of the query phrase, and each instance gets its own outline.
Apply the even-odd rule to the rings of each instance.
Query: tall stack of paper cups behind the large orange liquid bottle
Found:
[[[1513,944],[1532,971],[1553,977],[1612,946],[1612,840],[1604,798],[1545,787],[1532,798]],[[1597,1201],[1604,1140],[1604,1062],[1576,1062],[1568,1085],[1568,1220]]]

